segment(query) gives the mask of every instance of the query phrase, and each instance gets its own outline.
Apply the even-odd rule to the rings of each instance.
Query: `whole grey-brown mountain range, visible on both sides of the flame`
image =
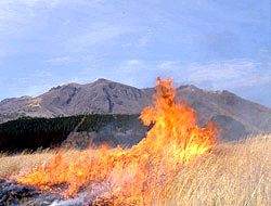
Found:
[[[152,103],[154,88],[137,89],[106,79],[88,85],[67,83],[37,96],[5,99],[0,102],[0,123],[18,117],[56,117],[77,114],[139,114]],[[180,86],[177,98],[184,98],[201,121],[217,121],[228,136],[271,132],[271,108],[244,100],[229,91],[208,91]],[[241,132],[241,133],[240,133]]]

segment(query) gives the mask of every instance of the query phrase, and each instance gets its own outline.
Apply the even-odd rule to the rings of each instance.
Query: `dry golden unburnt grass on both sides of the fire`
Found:
[[[66,151],[76,159],[80,151]],[[0,156],[0,177],[49,163],[52,151]],[[271,205],[271,134],[221,144],[183,167],[166,184],[160,205]],[[156,204],[157,205],[157,204]]]

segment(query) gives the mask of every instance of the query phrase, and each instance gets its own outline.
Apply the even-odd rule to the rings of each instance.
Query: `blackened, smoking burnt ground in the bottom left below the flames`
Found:
[[[61,190],[66,189],[67,185],[57,185]],[[86,189],[81,191],[78,196],[68,199],[63,198],[60,192],[53,193],[40,191],[35,186],[18,184],[14,180],[0,180],[0,206],[95,206],[112,205],[112,199],[100,199],[94,202],[98,195],[101,195],[105,190],[98,184],[95,195],[91,195]]]

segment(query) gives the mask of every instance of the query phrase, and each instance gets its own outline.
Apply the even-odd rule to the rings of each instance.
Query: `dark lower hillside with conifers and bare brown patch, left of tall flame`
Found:
[[[107,144],[131,147],[151,127],[139,115],[93,114],[57,118],[24,117],[0,124],[0,151],[16,153],[47,147],[86,149]]]

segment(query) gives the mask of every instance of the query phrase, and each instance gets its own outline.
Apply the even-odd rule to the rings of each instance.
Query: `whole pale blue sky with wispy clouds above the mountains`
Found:
[[[0,101],[105,78],[271,107],[270,0],[1,0]]]

